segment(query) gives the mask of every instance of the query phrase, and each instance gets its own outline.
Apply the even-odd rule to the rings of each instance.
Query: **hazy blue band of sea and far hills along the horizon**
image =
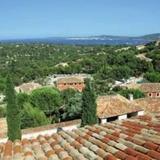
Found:
[[[0,40],[4,43],[51,43],[67,45],[139,45],[151,41],[160,40],[160,33],[143,36],[68,36],[68,37],[46,37],[33,39]]]

